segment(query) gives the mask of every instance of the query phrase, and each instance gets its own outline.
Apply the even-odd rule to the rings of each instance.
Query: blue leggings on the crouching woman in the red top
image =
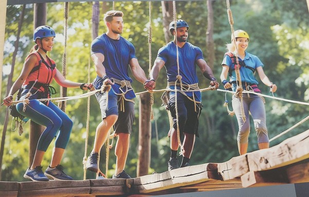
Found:
[[[46,106],[35,99],[30,100],[30,104],[27,105],[25,112],[23,112],[23,107],[23,103],[16,105],[16,109],[20,114],[46,127],[40,136],[37,150],[46,151],[58,131],[55,147],[66,148],[73,126],[73,122],[66,113],[51,102],[48,102]]]

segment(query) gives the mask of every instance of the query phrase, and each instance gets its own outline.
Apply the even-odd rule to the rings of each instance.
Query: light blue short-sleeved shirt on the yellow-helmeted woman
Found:
[[[257,81],[256,77],[255,77],[255,70],[262,66],[264,67],[263,63],[260,61],[259,57],[257,57],[256,55],[252,55],[251,53],[245,52],[245,58],[244,60],[241,60],[240,57],[238,57],[239,61],[243,61],[244,64],[247,67],[250,68],[245,68],[244,66],[241,66],[240,68],[240,77],[241,77],[241,81],[242,82],[247,82],[247,83],[251,83],[251,84],[259,84],[259,82]],[[234,69],[234,64],[232,64],[232,60],[228,55],[225,55],[222,61],[222,65],[227,65],[229,66],[229,69],[232,70],[231,74],[232,76],[230,76],[230,81],[237,81],[236,78],[236,73],[235,73],[235,69]]]

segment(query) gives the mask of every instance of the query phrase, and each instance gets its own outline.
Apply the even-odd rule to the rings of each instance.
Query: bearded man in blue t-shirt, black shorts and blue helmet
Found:
[[[201,92],[198,88],[196,65],[201,69],[203,75],[211,81],[210,85],[219,88],[219,83],[216,82],[212,70],[203,59],[202,50],[187,42],[188,29],[189,25],[181,19],[176,21],[176,31],[175,22],[170,23],[170,32],[174,35],[174,41],[159,49],[150,72],[151,83],[155,82],[163,66],[165,66],[167,72],[168,90],[163,94],[162,100],[173,117],[173,128],[168,134],[171,137],[169,170],[178,168],[176,155],[180,137],[178,137],[177,127],[180,134],[185,134],[181,145],[183,147],[183,160],[180,167],[189,165],[195,135],[198,136],[198,118],[203,105],[201,104]],[[155,83],[153,86],[155,86]],[[174,91],[175,87],[177,92]]]

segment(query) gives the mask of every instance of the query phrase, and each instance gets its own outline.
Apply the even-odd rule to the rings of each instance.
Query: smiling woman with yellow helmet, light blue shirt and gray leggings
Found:
[[[256,71],[259,74],[261,81],[270,88],[271,92],[276,92],[277,86],[270,82],[263,70],[263,63],[259,57],[246,51],[249,44],[249,35],[243,30],[234,31],[234,36],[231,36],[231,42],[235,37],[236,47],[233,44],[227,44],[227,53],[225,53],[222,61],[222,72],[220,75],[222,84],[225,89],[236,91],[237,86],[242,86],[244,90],[260,93],[258,87],[259,82],[255,77]],[[238,55],[239,64],[235,59],[235,54]],[[241,84],[237,79],[235,68],[239,68]],[[227,76],[229,74],[229,79]],[[259,149],[269,147],[268,131],[266,128],[266,112],[265,100],[257,94],[243,94],[244,112],[246,121],[242,119],[241,102],[235,94],[232,98],[232,106],[237,116],[239,131],[237,136],[238,150],[240,154],[245,154],[248,148],[248,137],[250,132],[249,112],[253,118],[255,129],[258,135]]]

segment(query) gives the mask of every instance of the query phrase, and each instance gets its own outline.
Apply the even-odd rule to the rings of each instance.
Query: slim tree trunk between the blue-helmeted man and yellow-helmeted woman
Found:
[[[213,42],[213,0],[207,0],[207,31],[206,31],[206,49],[208,50],[208,66],[213,69],[214,63],[214,42]]]

